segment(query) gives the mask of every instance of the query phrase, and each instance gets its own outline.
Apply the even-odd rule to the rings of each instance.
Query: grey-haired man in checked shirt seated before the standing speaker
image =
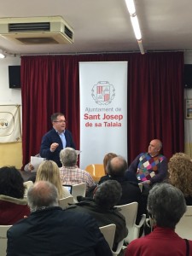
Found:
[[[86,190],[95,185],[90,173],[79,169],[77,166],[78,154],[75,149],[62,149],[60,152],[60,160],[62,163],[60,172],[63,184],[75,185],[79,183],[86,183]]]

